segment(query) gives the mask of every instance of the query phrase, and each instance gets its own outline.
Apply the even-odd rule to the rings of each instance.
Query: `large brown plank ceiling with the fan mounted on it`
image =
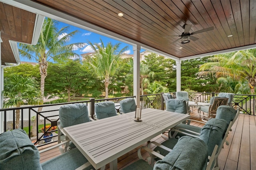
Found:
[[[256,44],[256,0],[32,1],[178,58]],[[119,17],[119,12],[124,16]],[[184,24],[192,25],[189,33],[214,30],[181,43],[176,40]]]

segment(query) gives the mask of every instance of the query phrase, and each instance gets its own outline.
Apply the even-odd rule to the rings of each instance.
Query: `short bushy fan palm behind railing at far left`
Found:
[[[37,81],[16,73],[4,79],[4,108],[21,105],[42,105],[43,100]],[[20,110],[16,110],[15,125],[19,128]]]

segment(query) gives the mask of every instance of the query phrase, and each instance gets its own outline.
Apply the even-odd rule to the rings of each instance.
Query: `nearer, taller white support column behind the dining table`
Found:
[[[136,96],[136,105],[140,105],[140,45],[133,46],[133,95]]]

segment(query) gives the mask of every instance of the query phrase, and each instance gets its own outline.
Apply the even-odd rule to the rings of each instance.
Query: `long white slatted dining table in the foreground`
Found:
[[[110,163],[117,169],[117,158],[188,119],[190,115],[142,109],[142,121],[135,112],[65,127],[64,132],[95,169]]]

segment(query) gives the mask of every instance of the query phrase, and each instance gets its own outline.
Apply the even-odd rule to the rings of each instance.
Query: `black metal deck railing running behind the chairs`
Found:
[[[175,98],[175,92],[171,93]],[[210,100],[212,96],[218,96],[218,93],[188,93],[190,99],[196,99],[198,102],[205,102]],[[130,96],[135,97],[135,96]],[[116,104],[116,110],[119,111],[120,105],[119,101],[128,97],[117,97],[117,98],[109,98],[109,99],[89,99],[87,101],[77,101],[77,102],[70,102],[70,103],[84,103],[88,106],[89,114],[93,118],[94,115],[94,103],[102,102],[102,101],[113,101]],[[255,113],[255,100],[256,95],[238,95],[236,94],[233,99],[232,107],[240,108],[241,114],[247,115],[254,115]],[[28,136],[37,144],[37,146],[42,146],[45,144],[49,144],[52,142],[56,142],[56,140],[52,140],[51,142],[42,143],[44,141],[44,134],[49,132],[56,132],[56,130],[50,131],[49,129],[45,129],[44,132],[38,133],[38,125],[46,125],[50,124],[51,127],[57,125],[58,112],[59,108],[62,105],[70,104],[70,103],[58,103],[58,104],[47,104],[47,105],[38,105],[38,106],[24,106],[24,107],[15,107],[15,108],[8,108],[8,109],[0,109],[1,113],[1,120],[3,124],[4,131],[12,130],[16,128],[15,124],[15,113],[16,110],[20,110],[20,123],[19,128],[28,128]],[[140,96],[140,106],[142,109],[146,108],[154,108],[154,109],[165,109],[164,99],[162,98],[162,93],[154,94],[154,95],[141,95]],[[40,108],[40,109],[39,109]],[[37,129],[36,129],[36,136],[32,137],[31,135],[31,126],[33,122],[30,120],[31,117],[35,116]],[[38,121],[38,117],[40,120]],[[57,136],[57,133],[54,133],[54,136]],[[50,138],[48,136],[47,138]]]

